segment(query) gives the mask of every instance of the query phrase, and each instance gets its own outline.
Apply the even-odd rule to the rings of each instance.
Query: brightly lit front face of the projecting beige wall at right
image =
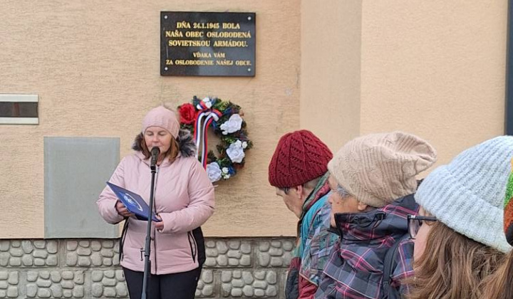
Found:
[[[439,162],[504,134],[507,1],[363,1],[361,133],[407,130]]]

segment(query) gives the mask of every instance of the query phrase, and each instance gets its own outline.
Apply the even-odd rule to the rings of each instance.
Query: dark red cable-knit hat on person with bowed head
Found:
[[[269,183],[279,188],[302,185],[325,174],[331,158],[331,151],[314,133],[287,133],[280,138],[269,163]]]

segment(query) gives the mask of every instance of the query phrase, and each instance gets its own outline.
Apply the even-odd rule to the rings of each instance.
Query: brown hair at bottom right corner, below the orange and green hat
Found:
[[[513,298],[513,251],[504,258],[504,263],[482,283],[483,299]]]

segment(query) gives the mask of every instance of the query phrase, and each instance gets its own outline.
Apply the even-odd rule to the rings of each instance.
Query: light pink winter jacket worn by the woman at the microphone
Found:
[[[197,243],[191,231],[214,213],[214,187],[197,159],[183,154],[172,164],[165,159],[155,177],[155,212],[162,217],[164,229],[152,229],[151,273],[191,271],[198,267]],[[149,202],[149,159],[144,159],[141,152],[123,158],[109,182],[140,194]],[[123,220],[115,209],[116,201],[115,194],[105,187],[96,202],[101,216],[110,224]],[[147,221],[134,216],[128,219],[121,266],[144,271],[146,229]]]

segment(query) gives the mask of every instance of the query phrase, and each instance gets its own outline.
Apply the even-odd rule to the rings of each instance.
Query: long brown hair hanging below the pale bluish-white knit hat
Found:
[[[504,253],[432,224],[423,255],[415,261],[408,299],[482,299],[479,285],[499,266]]]

